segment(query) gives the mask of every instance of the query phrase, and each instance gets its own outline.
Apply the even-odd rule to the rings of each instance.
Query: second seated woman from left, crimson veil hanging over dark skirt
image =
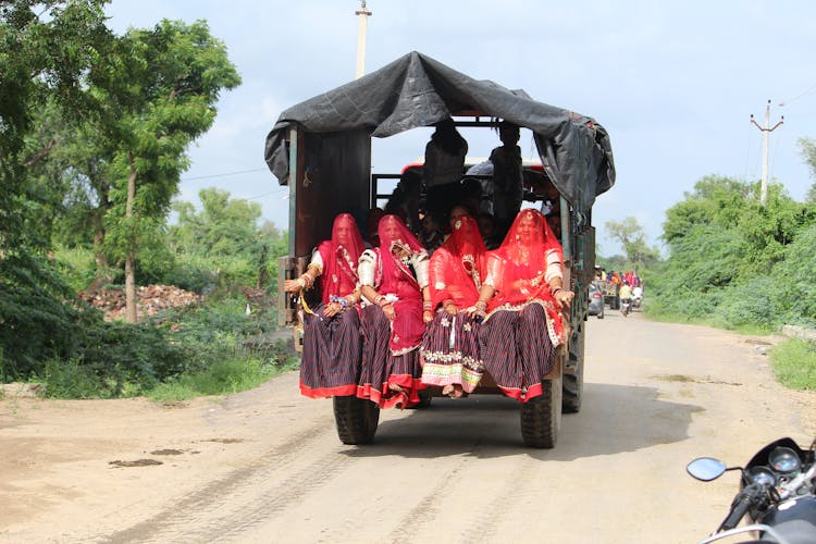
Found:
[[[380,220],[380,247],[360,257],[362,369],[357,396],[381,408],[419,403],[419,347],[431,314],[428,251],[397,215]],[[424,311],[423,311],[424,310]]]

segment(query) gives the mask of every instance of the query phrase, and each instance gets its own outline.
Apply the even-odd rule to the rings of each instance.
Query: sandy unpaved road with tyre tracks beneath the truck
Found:
[[[695,542],[737,478],[689,460],[816,435],[816,394],[778,385],[753,338],[586,325],[583,408],[552,450],[485,395],[383,411],[376,444],[344,446],[294,372],[181,407],[0,400],[0,542]]]

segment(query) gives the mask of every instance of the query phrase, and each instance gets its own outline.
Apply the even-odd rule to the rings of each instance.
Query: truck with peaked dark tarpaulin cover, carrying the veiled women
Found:
[[[565,285],[576,293],[562,314],[568,339],[557,349],[556,364],[543,382],[544,394],[522,403],[519,410],[523,443],[552,448],[561,413],[581,408],[584,324],[595,262],[592,206],[615,183],[609,136],[592,118],[540,102],[523,90],[472,78],[417,51],[283,111],[264,147],[268,166],[289,190],[288,255],[279,265],[279,323],[292,326],[296,337],[301,334],[296,297],[283,290],[283,280],[306,270],[312,249],[330,236],[335,215],[350,212],[364,225],[369,210],[387,196],[382,191],[385,182],[399,176],[372,172],[372,138],[430,127],[444,119],[475,129],[492,129],[500,119],[529,129],[539,170],[560,194]],[[474,392],[482,393],[500,391],[485,375]],[[334,397],[333,408],[343,443],[373,441],[375,404]]]

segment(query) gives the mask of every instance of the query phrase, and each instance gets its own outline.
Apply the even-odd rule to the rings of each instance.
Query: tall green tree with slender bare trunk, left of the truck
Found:
[[[165,20],[128,30],[91,81],[99,135],[114,145],[104,240],[124,262],[126,319],[136,322],[139,248],[159,238],[189,164],[187,147],[212,125],[221,90],[240,77],[205,22]]]

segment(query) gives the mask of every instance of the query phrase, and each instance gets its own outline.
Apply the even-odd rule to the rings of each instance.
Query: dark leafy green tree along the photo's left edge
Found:
[[[59,201],[34,171],[55,147],[36,137],[36,112],[87,115],[83,79],[110,33],[104,1],[0,3],[0,379],[27,378],[47,358],[76,349],[83,319],[47,258],[44,218]],[[40,141],[41,145],[34,145]]]

